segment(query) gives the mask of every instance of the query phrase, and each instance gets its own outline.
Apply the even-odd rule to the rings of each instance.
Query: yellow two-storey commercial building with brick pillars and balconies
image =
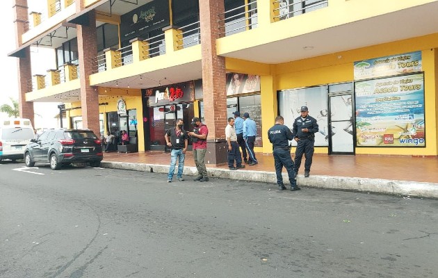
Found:
[[[206,161],[224,163],[232,112],[257,122],[270,153],[276,115],[318,120],[316,152],[438,154],[438,1],[14,0],[22,117],[65,104],[70,127],[127,130],[165,149],[179,117],[209,127]],[[45,76],[29,48],[54,49]]]

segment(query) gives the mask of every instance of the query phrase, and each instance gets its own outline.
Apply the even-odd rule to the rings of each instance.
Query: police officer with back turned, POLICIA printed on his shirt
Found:
[[[289,140],[293,140],[293,134],[289,127],[284,125],[284,118],[277,116],[275,125],[268,130],[269,142],[273,144],[273,154],[275,161],[275,174],[277,174],[277,185],[279,190],[286,187],[283,183],[282,169],[286,167],[289,181],[291,182],[291,191],[300,190],[295,181],[295,172],[293,172],[293,161],[291,158],[291,147]]]

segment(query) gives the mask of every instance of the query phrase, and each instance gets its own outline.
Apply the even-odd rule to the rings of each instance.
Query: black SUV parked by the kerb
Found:
[[[50,163],[52,170],[79,162],[99,167],[103,158],[101,141],[88,129],[50,129],[32,139],[24,150],[27,167],[35,162]]]

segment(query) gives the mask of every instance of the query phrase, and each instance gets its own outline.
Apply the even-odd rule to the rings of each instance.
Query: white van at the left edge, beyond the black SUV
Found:
[[[7,118],[0,120],[0,161],[22,159],[24,148],[35,137],[29,119]]]

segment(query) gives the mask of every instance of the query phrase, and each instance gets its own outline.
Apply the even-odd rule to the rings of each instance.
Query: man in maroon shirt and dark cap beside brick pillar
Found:
[[[195,159],[195,165],[197,169],[197,178],[195,181],[209,181],[209,176],[206,172],[204,163],[204,157],[206,153],[206,138],[209,134],[205,124],[202,124],[199,117],[192,119],[193,131],[188,132],[188,135],[192,137],[193,142],[193,158]]]

